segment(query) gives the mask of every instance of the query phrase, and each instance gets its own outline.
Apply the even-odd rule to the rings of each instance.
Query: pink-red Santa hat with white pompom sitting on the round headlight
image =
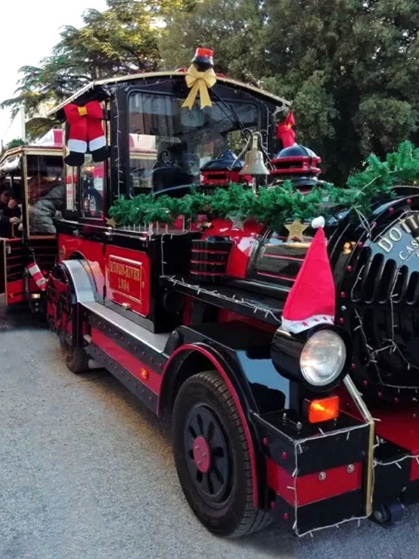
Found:
[[[311,222],[311,227],[318,230],[286,299],[282,313],[282,329],[286,332],[295,334],[318,324],[335,322],[335,282],[328,258],[324,225],[323,217]]]

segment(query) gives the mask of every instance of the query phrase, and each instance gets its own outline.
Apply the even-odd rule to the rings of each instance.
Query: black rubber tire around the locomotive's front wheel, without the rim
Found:
[[[201,498],[191,481],[184,448],[184,423],[189,409],[207,403],[219,416],[230,445],[233,484],[226,504],[220,509]],[[175,464],[180,485],[189,506],[201,523],[215,535],[238,538],[267,526],[271,517],[253,505],[253,480],[249,445],[233,396],[216,371],[200,372],[182,384],[172,413]]]

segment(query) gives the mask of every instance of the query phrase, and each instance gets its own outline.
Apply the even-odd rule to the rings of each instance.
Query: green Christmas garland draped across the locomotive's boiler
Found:
[[[110,208],[110,217],[118,226],[145,226],[156,222],[170,226],[179,216],[189,223],[198,215],[241,222],[253,218],[279,231],[289,220],[311,222],[318,215],[328,219],[341,210],[353,210],[367,217],[374,201],[393,196],[393,186],[416,184],[416,180],[419,180],[419,149],[404,142],[384,161],[370,155],[365,169],[351,175],[344,188],[323,182],[302,194],[287,180],[270,188],[262,187],[257,194],[243,184],[218,187],[212,194],[191,189],[190,194],[182,198],[140,194],[131,199],[119,198]]]

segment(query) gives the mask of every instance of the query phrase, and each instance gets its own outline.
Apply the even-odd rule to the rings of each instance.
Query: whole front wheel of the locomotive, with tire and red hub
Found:
[[[249,447],[232,395],[215,372],[182,384],[172,415],[175,463],[186,500],[216,535],[242,537],[270,516],[253,505]]]

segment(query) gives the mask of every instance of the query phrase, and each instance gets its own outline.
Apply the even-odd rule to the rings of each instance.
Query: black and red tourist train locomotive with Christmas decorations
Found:
[[[53,111],[75,182],[56,220],[50,325],[71,371],[104,367],[170,414],[186,500],[229,537],[270,520],[296,535],[389,524],[419,498],[418,189],[395,188],[367,217],[276,230],[239,213],[144,224],[135,205],[133,135],[154,154],[156,201],[289,177],[305,196],[320,160],[279,145],[288,107],[216,75],[198,49],[187,70],[94,82]],[[87,152],[104,168],[100,215],[74,173]]]

